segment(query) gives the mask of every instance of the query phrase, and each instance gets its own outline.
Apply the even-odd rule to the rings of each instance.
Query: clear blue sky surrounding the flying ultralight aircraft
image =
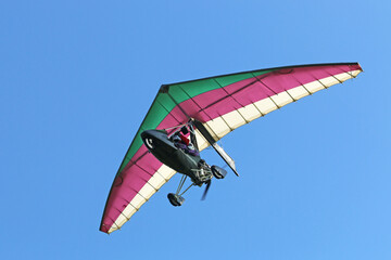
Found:
[[[390,259],[389,1],[2,1],[3,259]],[[159,87],[360,62],[356,79],[223,140],[240,178],[181,208],[176,176],[98,231]],[[207,161],[223,164],[212,151]]]

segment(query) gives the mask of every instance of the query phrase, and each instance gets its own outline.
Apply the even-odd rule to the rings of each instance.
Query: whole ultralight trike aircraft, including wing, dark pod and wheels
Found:
[[[285,66],[163,84],[114,178],[100,224],[112,233],[137,212],[176,172],[181,206],[191,186],[224,179],[227,171],[210,166],[200,152],[212,146],[239,176],[234,159],[217,141],[235,129],[304,96],[355,78],[358,63]],[[187,179],[189,186],[181,191]]]

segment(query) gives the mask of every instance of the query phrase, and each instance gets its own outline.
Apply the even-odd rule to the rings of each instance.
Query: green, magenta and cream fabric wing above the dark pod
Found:
[[[161,87],[114,178],[100,230],[118,230],[175,171],[148,153],[140,134],[202,122],[214,141],[238,127],[316,91],[355,78],[358,63],[277,67]],[[200,151],[210,142],[197,130]],[[168,131],[169,133],[169,131]]]

